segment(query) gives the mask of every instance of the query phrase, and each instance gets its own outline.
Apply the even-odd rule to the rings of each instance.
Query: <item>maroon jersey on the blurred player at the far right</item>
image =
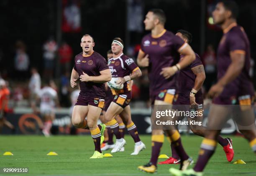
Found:
[[[226,30],[224,30],[223,37],[220,40],[218,46],[217,59],[218,59],[218,80],[222,78],[230,63],[230,52],[245,54],[245,63],[242,72],[238,77],[228,83],[220,97],[235,97],[241,95],[253,95],[254,88],[249,76],[250,69],[250,43],[247,35],[241,26],[236,23],[231,24]]]

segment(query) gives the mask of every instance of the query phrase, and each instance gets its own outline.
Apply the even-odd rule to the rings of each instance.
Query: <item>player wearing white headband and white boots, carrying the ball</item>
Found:
[[[138,153],[145,149],[146,146],[139,138],[137,127],[131,119],[131,109],[129,104],[131,101],[130,81],[141,76],[141,70],[134,63],[132,58],[123,54],[123,47],[123,40],[114,38],[111,46],[113,58],[108,60],[108,66],[111,70],[112,77],[119,78],[116,83],[119,85],[123,84],[123,88],[120,90],[111,88],[114,98],[108,107],[105,118],[106,121],[108,121],[107,126],[110,126],[116,137],[115,147],[112,149],[111,153],[120,151],[126,143],[119,131],[118,122],[115,120],[115,116],[119,115],[135,142],[134,151],[131,155],[138,155]]]

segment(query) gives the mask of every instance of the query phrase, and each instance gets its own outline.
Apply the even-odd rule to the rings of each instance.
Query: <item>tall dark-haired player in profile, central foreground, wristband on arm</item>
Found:
[[[145,29],[151,30],[151,33],[142,39],[137,62],[141,67],[148,67],[151,104],[171,107],[177,89],[175,73],[192,63],[195,60],[195,53],[181,38],[164,29],[165,21],[166,16],[163,10],[148,11],[144,24]],[[184,59],[179,62],[180,54],[184,55]],[[156,106],[154,111],[155,109]],[[154,118],[152,114],[151,119]],[[166,130],[165,132],[170,136],[169,138],[181,158],[180,168],[187,168],[192,163],[192,159],[183,149],[179,132],[177,130]],[[164,142],[163,131],[153,129],[151,140],[151,159],[148,164],[139,166],[138,169],[154,173],[157,170],[156,163],[160,148]]]

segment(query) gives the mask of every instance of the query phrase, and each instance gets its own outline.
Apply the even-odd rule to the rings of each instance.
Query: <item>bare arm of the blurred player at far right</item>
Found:
[[[225,75],[220,78],[218,83],[210,88],[209,96],[211,98],[216,97],[222,93],[225,85],[236,79],[238,75],[242,72],[245,63],[245,51],[244,50],[234,50],[230,52],[231,63]]]

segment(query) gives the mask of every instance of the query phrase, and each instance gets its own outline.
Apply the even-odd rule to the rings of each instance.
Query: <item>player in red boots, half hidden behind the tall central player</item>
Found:
[[[177,36],[182,38],[184,42],[192,42],[192,34],[186,30],[178,30]],[[179,83],[179,96],[177,101],[174,103],[177,105],[179,111],[190,111],[190,106],[198,112],[203,112],[204,98],[202,94],[202,85],[205,80],[205,70],[202,65],[202,61],[197,53],[195,53],[196,59],[186,68],[180,70],[178,76]],[[180,57],[183,59],[183,55]],[[199,113],[198,113],[199,114]],[[183,117],[182,117],[183,118]],[[203,116],[197,116],[196,118],[188,117],[188,120],[196,120],[202,122]],[[182,119],[179,119],[182,120]],[[202,126],[190,125],[191,131],[198,135],[204,136],[205,128]],[[221,136],[217,138],[218,143],[223,147],[226,153],[227,160],[231,162],[234,157],[234,150],[232,146],[232,140],[230,138],[223,139]],[[175,151],[173,145],[171,145],[172,157],[168,158],[166,161],[159,162],[159,164],[178,164],[179,156]]]

